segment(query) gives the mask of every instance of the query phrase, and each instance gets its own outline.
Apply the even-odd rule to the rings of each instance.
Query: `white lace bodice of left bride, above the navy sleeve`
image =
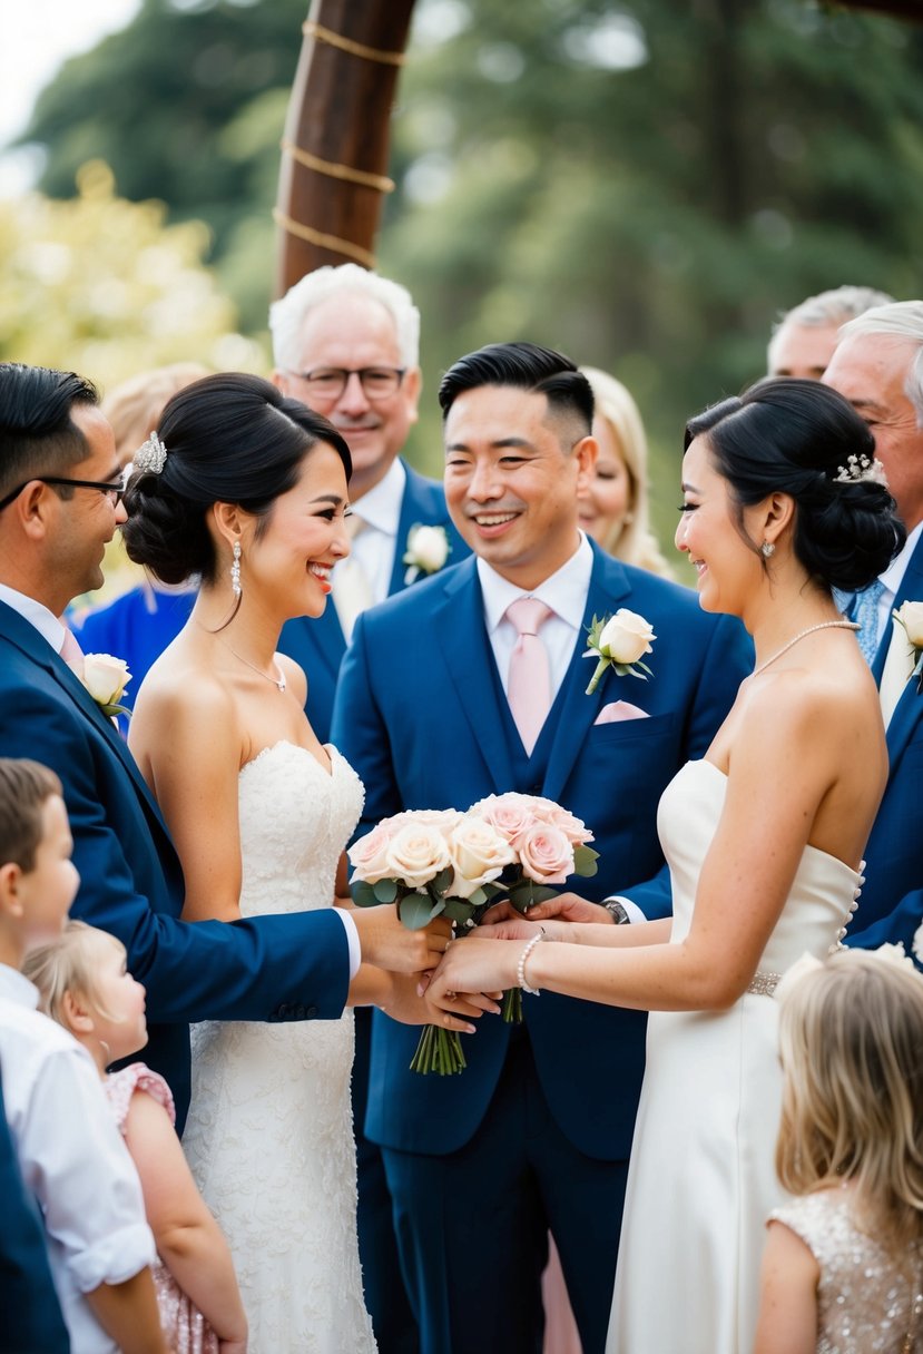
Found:
[[[305,747],[273,743],[240,774],[241,913],[329,907],[344,844],[363,810],[363,784],[336,747],[330,772]]]

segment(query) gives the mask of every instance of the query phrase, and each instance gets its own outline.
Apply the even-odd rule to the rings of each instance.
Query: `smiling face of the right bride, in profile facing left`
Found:
[[[762,559],[744,539],[747,512],[740,515],[705,437],[696,437],[683,456],[682,497],[675,544],[696,569],[700,605],[740,616],[750,589],[762,577]]]

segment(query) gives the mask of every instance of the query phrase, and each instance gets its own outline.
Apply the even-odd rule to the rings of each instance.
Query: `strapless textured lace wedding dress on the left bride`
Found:
[[[363,806],[352,768],[276,743],[240,774],[241,913],[329,907]],[[234,1255],[249,1354],[374,1354],[356,1242],[353,1020],[192,1028],[183,1135]]]

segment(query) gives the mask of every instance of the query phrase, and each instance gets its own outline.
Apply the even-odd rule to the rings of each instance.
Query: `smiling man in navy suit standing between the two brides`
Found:
[[[598,880],[620,886],[610,909],[583,904],[591,918],[665,915],[658,800],[727,714],[750,666],[746,635],[578,529],[597,447],[593,394],[568,359],[480,349],[449,370],[440,402],[447,501],[475,558],[357,621],[333,735],[365,781],[363,827],[403,808],[544,795],[587,823]],[[551,708],[535,742],[506,695],[508,609],[522,597],[549,612]],[[587,696],[587,628],[621,607],[654,627],[652,677],[610,670]],[[367,1132],[384,1150],[424,1354],[540,1350],[548,1229],[585,1354],[604,1347],[646,1017],[555,995],[525,1007],[521,1026],[480,1022],[459,1076],[410,1072],[415,1033],[375,1017]]]

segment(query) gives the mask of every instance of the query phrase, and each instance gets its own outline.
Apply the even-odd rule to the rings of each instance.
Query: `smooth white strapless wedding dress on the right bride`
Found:
[[[673,936],[724,804],[725,776],[688,762],[660,799]],[[769,846],[769,844],[767,844]],[[750,1354],[782,1098],[778,1007],[769,990],[807,951],[834,948],[861,876],[807,846],[759,972],[725,1011],[652,1011],[606,1354]]]

